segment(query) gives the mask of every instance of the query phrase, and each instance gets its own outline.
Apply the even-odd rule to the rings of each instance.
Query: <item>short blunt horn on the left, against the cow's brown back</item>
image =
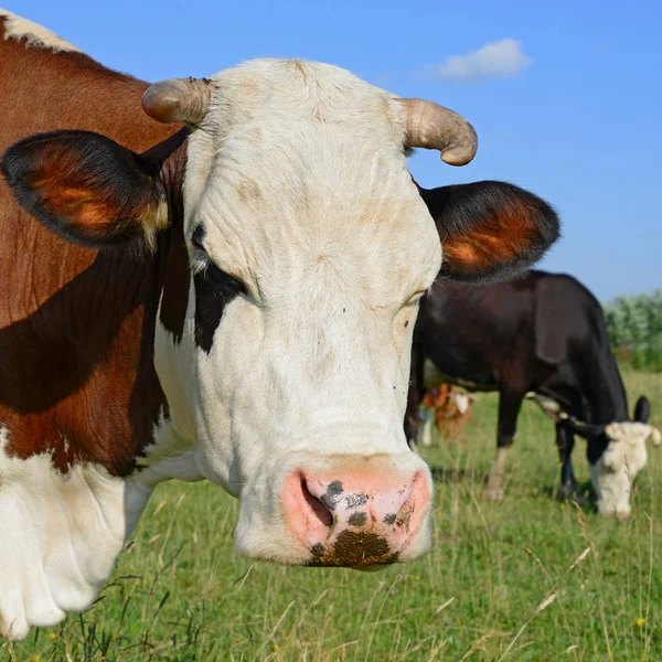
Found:
[[[163,124],[199,125],[214,93],[209,78],[169,78],[150,85],[142,95],[142,109]]]

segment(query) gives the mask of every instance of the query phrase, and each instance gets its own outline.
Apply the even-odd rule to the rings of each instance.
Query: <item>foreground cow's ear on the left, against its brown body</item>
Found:
[[[151,237],[168,223],[158,164],[89,131],[31,136],[2,173],[18,202],[70,242],[103,247]]]

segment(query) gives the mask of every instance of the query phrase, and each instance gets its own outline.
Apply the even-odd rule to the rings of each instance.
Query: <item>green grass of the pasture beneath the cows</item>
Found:
[[[626,373],[662,427],[662,377]],[[493,395],[480,395],[469,442],[427,453],[438,477],[434,549],[378,573],[281,568],[237,557],[236,503],[206,483],[161,485],[99,600],[33,631],[0,659],[662,660],[662,448],[627,522],[553,498],[553,424],[525,404],[505,499],[481,499],[494,455]],[[585,442],[576,473],[588,484]],[[588,552],[586,552],[588,549]]]

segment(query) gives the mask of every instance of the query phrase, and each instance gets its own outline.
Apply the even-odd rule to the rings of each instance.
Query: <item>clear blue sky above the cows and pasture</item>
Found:
[[[6,2],[147,81],[298,56],[449,106],[477,128],[478,156],[453,169],[419,150],[421,185],[530,189],[564,222],[543,268],[602,300],[662,286],[660,0]]]

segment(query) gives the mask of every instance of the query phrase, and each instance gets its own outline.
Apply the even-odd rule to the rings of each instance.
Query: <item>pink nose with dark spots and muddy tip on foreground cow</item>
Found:
[[[428,510],[423,471],[395,477],[296,470],[285,481],[288,527],[310,565],[366,567],[394,563]]]

